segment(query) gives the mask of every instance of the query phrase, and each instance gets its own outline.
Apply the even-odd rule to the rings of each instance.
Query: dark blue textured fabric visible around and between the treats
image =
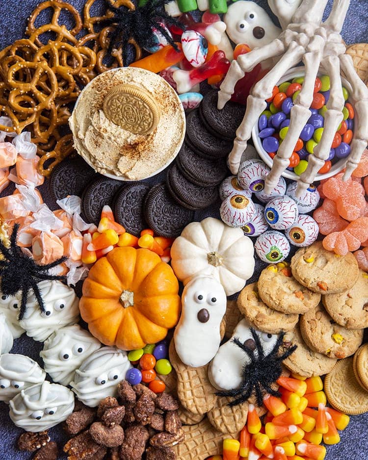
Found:
[[[38,0],[0,0],[0,49],[24,36],[26,19],[38,2]],[[69,0],[69,3],[72,3],[81,11],[84,0]],[[256,3],[270,12],[266,0],[256,0]],[[329,0],[328,11],[331,5],[332,0]],[[347,44],[368,41],[368,0],[351,0],[342,36]],[[49,195],[47,193],[47,184],[41,188],[41,192],[46,196],[45,201],[52,209],[55,209],[50,197],[47,197]],[[212,215],[217,217],[217,212],[217,210],[213,209]],[[207,211],[206,214],[208,215],[208,213]],[[203,214],[198,215],[196,220],[204,217],[205,215]],[[259,272],[260,268],[258,266],[256,272]],[[11,352],[28,355],[42,365],[39,358],[41,349],[42,344],[33,341],[24,334],[15,341]],[[9,419],[7,406],[0,403],[0,460],[21,460],[32,457],[29,453],[20,452],[16,448],[16,441],[21,432],[22,430],[15,427]],[[60,441],[60,446],[66,440],[62,430],[59,428],[51,430],[50,435],[53,440]],[[59,459],[66,459],[66,456],[60,453]],[[327,447],[326,460],[348,459],[368,460],[368,413],[351,417],[349,426],[341,433],[341,442],[335,446]]]

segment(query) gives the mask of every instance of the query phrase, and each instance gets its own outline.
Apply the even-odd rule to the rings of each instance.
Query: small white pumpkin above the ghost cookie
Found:
[[[171,247],[171,266],[184,285],[193,277],[210,275],[226,295],[240,291],[253,275],[253,244],[240,228],[207,217],[187,225]]]

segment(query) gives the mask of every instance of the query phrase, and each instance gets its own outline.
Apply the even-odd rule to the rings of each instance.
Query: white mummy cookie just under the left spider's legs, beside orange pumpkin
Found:
[[[79,299],[72,287],[61,281],[41,281],[38,284],[45,303],[42,313],[38,302],[30,290],[26,304],[26,312],[20,325],[29,337],[39,342],[45,341],[54,331],[78,322]]]

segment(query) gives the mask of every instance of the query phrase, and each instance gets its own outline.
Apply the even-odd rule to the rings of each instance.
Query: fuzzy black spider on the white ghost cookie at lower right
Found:
[[[285,333],[281,333],[272,351],[265,356],[258,334],[253,328],[251,328],[250,331],[252,332],[255,347],[245,345],[246,342],[240,342],[237,337],[233,339],[233,342],[241,348],[250,359],[250,363],[245,364],[242,369],[243,382],[238,388],[216,393],[217,396],[230,396],[234,398],[229,404],[230,407],[245,403],[253,393],[256,395],[258,406],[262,406],[263,395],[265,393],[269,393],[272,396],[280,396],[278,391],[271,388],[271,384],[276,382],[282,373],[282,361],[288,358],[296,349],[296,345],[294,345],[283,355],[279,356],[279,349],[285,335]],[[257,355],[255,352],[257,352]]]

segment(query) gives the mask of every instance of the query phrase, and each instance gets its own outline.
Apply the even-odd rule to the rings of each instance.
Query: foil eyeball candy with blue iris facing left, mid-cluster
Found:
[[[287,195],[269,201],[264,209],[268,225],[275,230],[288,229],[298,217],[298,208],[294,200]]]

